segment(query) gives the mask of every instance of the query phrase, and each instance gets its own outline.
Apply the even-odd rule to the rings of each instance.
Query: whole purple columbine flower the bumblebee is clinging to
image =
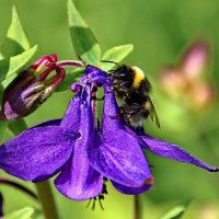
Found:
[[[95,117],[95,89],[104,88],[101,125]],[[39,182],[59,173],[57,189],[83,200],[106,194],[105,178],[124,194],[140,194],[153,184],[142,147],[158,155],[218,171],[177,146],[128,128],[119,113],[112,79],[92,66],[72,85],[77,95],[62,119],[32,127],[0,147],[0,169],[24,181]]]

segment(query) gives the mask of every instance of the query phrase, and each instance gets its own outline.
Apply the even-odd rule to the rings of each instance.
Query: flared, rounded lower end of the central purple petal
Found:
[[[90,166],[82,154],[72,155],[61,169],[55,185],[66,197],[84,200],[93,198],[102,192],[103,176]]]

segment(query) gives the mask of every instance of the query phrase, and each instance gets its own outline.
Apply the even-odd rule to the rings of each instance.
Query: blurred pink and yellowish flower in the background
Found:
[[[169,66],[162,71],[160,80],[165,92],[174,99],[186,100],[194,110],[208,107],[215,97],[214,84],[204,73],[209,58],[209,44],[194,42],[176,66]]]

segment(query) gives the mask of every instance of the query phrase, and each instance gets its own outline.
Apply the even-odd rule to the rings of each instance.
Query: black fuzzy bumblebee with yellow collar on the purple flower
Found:
[[[150,116],[160,127],[159,118],[149,96],[151,84],[143,71],[138,67],[126,65],[111,70],[110,77],[114,78],[112,91],[123,101],[119,116],[132,127],[142,127],[143,120]]]

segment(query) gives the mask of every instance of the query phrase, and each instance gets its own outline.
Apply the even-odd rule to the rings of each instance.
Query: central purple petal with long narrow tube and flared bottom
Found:
[[[97,196],[103,188],[103,176],[88,160],[88,145],[94,141],[91,108],[81,106],[81,137],[77,139],[72,155],[55,181],[57,189],[71,199],[83,200]]]

